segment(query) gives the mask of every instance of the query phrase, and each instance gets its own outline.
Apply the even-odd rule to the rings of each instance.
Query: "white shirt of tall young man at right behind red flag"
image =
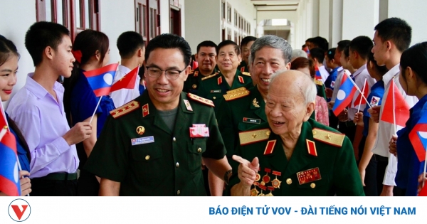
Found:
[[[394,78],[394,82],[396,83],[396,87],[398,87],[401,94],[404,96],[405,101],[408,103],[409,107],[413,107],[413,105],[418,102],[418,99],[416,97],[411,97],[406,95],[404,89],[401,87],[401,84],[399,82],[399,64],[395,65],[389,72],[386,73],[386,75],[383,76],[384,80],[384,97],[382,98],[381,102],[381,109],[379,111],[379,128],[378,128],[378,134],[376,135],[376,142],[374,149],[372,149],[372,152],[374,154],[377,154],[379,156],[384,156],[389,158],[389,165],[386,167],[386,172],[384,174],[384,185],[388,186],[396,186],[396,183],[394,182],[394,178],[396,177],[397,172],[397,158],[393,154],[390,154],[389,152],[389,142],[391,139],[391,136],[394,133],[394,124],[390,124],[388,122],[381,121],[381,115],[384,110],[384,105],[386,103],[386,95],[389,92],[389,88],[391,85],[391,79]],[[398,132],[403,127],[397,125],[396,126],[396,132]]]

